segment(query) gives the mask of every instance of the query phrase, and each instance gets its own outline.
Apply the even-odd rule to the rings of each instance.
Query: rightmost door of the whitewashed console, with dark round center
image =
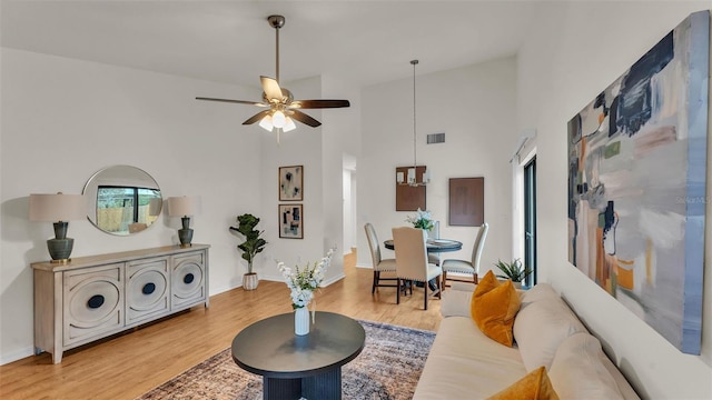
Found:
[[[194,306],[206,299],[205,251],[172,256],[171,310]]]

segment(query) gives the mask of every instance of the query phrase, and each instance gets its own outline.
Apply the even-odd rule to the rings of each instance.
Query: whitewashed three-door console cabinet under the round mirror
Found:
[[[209,306],[208,244],[32,263],[34,353],[62,352],[199,303]]]

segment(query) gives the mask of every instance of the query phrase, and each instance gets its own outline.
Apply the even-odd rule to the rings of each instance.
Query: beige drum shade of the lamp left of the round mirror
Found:
[[[30,194],[30,221],[57,222],[87,218],[82,194]]]

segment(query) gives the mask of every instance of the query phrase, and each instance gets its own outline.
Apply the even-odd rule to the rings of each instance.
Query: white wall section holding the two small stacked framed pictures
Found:
[[[277,144],[276,133],[260,133],[260,169],[266,172],[261,183],[263,229],[271,243],[263,251],[264,268],[258,270],[263,279],[279,280],[281,276],[274,260],[287,264],[317,261],[326,251],[336,247],[324,284],[344,277],[343,252],[343,157],[345,149],[358,143],[360,123],[359,93],[348,83],[333,77],[314,77],[284,83],[297,99],[349,99],[352,107],[329,110],[307,110],[322,121],[318,128],[298,124],[291,132],[283,133]],[[260,129],[260,131],[263,131]],[[265,132],[265,131],[263,131]],[[277,169],[281,166],[304,166],[304,239],[279,238],[277,208]],[[274,172],[274,180],[270,178]],[[287,202],[284,202],[287,203]],[[285,296],[288,292],[285,290]]]

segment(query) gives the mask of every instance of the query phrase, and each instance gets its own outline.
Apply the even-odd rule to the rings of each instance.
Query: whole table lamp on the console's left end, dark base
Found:
[[[67,263],[75,239],[67,238],[70,220],[87,217],[87,200],[82,194],[30,194],[30,221],[53,222],[55,239],[47,240],[51,262]]]

